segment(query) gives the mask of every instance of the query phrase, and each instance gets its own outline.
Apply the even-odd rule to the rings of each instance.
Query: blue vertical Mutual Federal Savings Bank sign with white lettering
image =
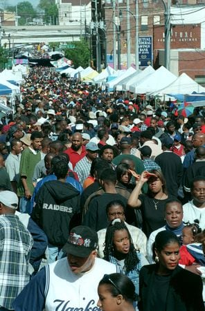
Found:
[[[152,36],[139,37],[139,66],[152,66]]]

